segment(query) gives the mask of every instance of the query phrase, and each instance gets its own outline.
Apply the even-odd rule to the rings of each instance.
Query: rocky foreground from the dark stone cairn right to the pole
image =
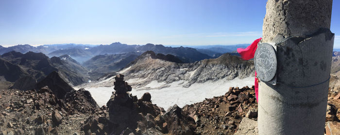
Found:
[[[223,96],[165,111],[152,104],[150,93],[140,99],[129,94],[122,75],[115,80],[107,108],[84,122],[85,135],[233,135],[243,117],[257,118],[254,87],[230,88]]]

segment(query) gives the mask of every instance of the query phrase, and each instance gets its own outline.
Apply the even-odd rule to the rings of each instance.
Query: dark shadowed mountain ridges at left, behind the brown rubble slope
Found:
[[[14,83],[15,89],[33,89],[32,83],[42,81],[47,75],[56,71],[71,85],[88,82],[87,69],[70,57],[52,57],[43,53],[11,51],[1,55],[0,75],[2,83]],[[31,82],[31,83],[30,83]],[[5,87],[8,87],[6,85]]]

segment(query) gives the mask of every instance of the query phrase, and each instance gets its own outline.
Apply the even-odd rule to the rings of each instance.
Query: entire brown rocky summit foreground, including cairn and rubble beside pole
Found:
[[[224,95],[167,110],[129,93],[124,75],[99,107],[89,91],[70,90],[58,97],[48,86],[0,90],[0,135],[257,135],[254,86],[226,89]],[[338,135],[340,95],[329,90],[326,135]]]

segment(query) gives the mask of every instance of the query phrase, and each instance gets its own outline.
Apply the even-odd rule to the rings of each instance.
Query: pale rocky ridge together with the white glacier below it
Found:
[[[141,96],[150,92],[154,95],[153,103],[165,108],[219,96],[229,87],[254,84],[253,61],[230,54],[194,63],[177,63],[158,58],[152,51],[147,51],[118,73],[125,75],[133,94]],[[104,105],[113,90],[115,74],[78,88],[89,90],[96,102]]]

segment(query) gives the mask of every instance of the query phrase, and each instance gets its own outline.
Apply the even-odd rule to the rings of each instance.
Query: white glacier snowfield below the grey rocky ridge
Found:
[[[133,79],[130,79],[129,81],[132,80]],[[136,80],[138,81],[140,79]],[[185,84],[185,81],[181,80],[168,84],[170,87],[167,88],[153,90],[143,90],[143,88],[137,90],[132,89],[130,93],[141,98],[145,92],[149,92],[151,94],[153,104],[157,104],[167,110],[174,104],[183,107],[184,105],[202,102],[205,98],[213,98],[214,96],[224,95],[229,90],[229,87],[251,87],[254,85],[254,77],[247,77],[243,79],[235,78],[233,80],[221,79],[215,82],[207,81],[204,83],[194,83],[188,88],[184,88],[183,84]],[[164,82],[152,81],[147,86],[159,87],[161,85],[164,85]],[[110,99],[112,91],[114,91],[113,88],[113,86],[90,87],[85,88],[85,90],[90,91],[97,104],[102,106],[106,105],[107,101]]]

